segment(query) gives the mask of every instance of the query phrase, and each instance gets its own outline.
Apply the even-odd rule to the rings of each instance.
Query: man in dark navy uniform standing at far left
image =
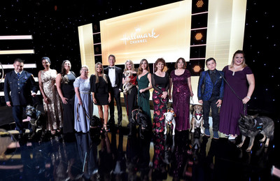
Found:
[[[18,138],[22,138],[25,133],[22,111],[25,111],[26,106],[32,102],[32,96],[36,96],[38,87],[33,75],[23,71],[24,61],[22,59],[15,59],[13,66],[15,70],[6,73],[5,76],[4,94],[6,105],[12,106],[15,126],[20,133]]]

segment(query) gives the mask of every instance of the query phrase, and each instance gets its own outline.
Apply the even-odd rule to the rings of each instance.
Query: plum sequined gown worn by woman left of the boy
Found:
[[[190,89],[188,87],[188,78],[190,71],[185,70],[182,75],[175,75],[175,71],[170,73],[172,78],[173,91],[173,109],[176,114],[176,129],[190,129]]]

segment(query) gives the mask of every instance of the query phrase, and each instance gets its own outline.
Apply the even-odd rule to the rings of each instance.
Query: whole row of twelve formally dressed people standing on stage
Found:
[[[63,133],[90,131],[92,103],[97,105],[104,131],[109,131],[108,122],[115,122],[114,99],[118,110],[118,125],[121,125],[123,113],[120,92],[127,82],[133,85],[130,92],[124,94],[129,122],[132,120],[132,109],[136,106],[143,110],[149,118],[148,122],[151,122],[149,89],[153,88],[154,133],[164,131],[164,113],[167,111],[168,99],[173,100],[176,130],[190,129],[190,96],[194,94],[190,71],[186,69],[187,64],[183,58],[176,61],[175,70],[170,75],[164,70],[166,63],[162,58],[155,61],[155,70],[152,74],[146,59],[140,61],[138,71],[135,71],[133,62],[127,60],[125,70],[122,71],[122,68],[115,66],[116,57],[109,55],[109,66],[103,68],[102,63],[97,62],[95,73],[90,77],[87,66],[80,68],[80,76],[77,77],[71,71],[69,60],[63,61],[62,71],[58,74],[50,68],[51,62],[48,57],[43,57],[41,62],[44,69],[38,72],[38,83],[47,116],[45,131],[50,131],[52,135],[61,130]],[[13,66],[15,70],[6,73],[4,93],[7,106],[13,107],[16,129],[22,136],[25,132],[22,125],[22,111],[28,103],[31,103],[31,96],[36,95],[38,87],[33,75],[23,70],[22,59],[15,59]],[[214,138],[219,138],[218,131],[220,131],[228,135],[229,139],[235,139],[239,134],[237,125],[239,114],[244,113],[244,104],[251,99],[255,87],[253,73],[245,64],[244,52],[241,50],[235,52],[232,64],[225,66],[223,71],[216,70],[214,58],[207,59],[206,66],[208,71],[201,73],[197,88],[197,97],[204,110],[205,136],[210,136],[211,108]],[[125,77],[125,71],[131,71],[130,78]]]

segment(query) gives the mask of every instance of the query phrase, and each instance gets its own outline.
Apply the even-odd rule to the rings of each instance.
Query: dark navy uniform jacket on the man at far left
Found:
[[[38,86],[31,73],[22,71],[19,78],[15,71],[6,73],[4,82],[6,102],[10,101],[13,106],[27,106],[32,102],[31,91],[38,91]]]

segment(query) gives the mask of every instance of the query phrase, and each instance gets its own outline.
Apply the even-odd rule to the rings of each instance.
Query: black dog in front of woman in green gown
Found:
[[[143,113],[141,108],[132,110],[132,120],[130,122],[130,135],[132,133],[132,124],[139,126],[139,136],[144,139],[142,131],[148,128],[148,116]]]

